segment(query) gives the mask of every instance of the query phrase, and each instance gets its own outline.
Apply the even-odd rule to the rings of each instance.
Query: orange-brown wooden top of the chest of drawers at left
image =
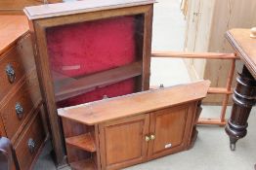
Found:
[[[2,54],[28,32],[29,28],[24,16],[0,16],[0,20],[0,54]]]

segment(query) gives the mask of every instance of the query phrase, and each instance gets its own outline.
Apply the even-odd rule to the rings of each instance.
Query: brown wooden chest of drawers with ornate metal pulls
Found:
[[[20,169],[27,170],[46,139],[43,100],[25,17],[0,20],[0,131],[11,140]]]

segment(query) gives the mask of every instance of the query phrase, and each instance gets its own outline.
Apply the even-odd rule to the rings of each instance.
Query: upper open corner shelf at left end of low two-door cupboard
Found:
[[[96,152],[95,140],[90,132],[79,136],[65,138],[65,143],[86,152]]]

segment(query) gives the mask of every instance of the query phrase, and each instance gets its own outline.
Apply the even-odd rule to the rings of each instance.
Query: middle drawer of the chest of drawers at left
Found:
[[[42,101],[35,70],[1,107],[0,114],[9,139],[14,141]]]

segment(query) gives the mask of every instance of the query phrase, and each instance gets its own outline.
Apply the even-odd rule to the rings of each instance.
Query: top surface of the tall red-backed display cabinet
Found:
[[[23,11],[29,19],[38,19],[147,5],[154,2],[154,0],[86,0],[25,7]]]

